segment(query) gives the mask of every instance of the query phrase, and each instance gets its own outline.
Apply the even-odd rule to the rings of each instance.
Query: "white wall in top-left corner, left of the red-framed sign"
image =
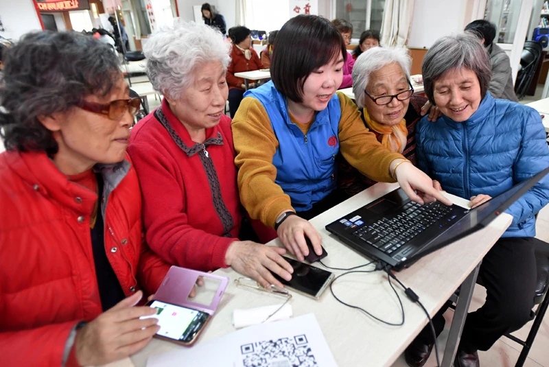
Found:
[[[5,28],[0,36],[4,38],[19,40],[27,32],[42,30],[32,0],[0,0],[0,17]]]

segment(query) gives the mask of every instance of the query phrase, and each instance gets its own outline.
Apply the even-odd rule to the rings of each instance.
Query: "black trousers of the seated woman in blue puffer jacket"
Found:
[[[487,351],[505,333],[520,329],[530,321],[534,307],[537,268],[531,238],[501,238],[480,265],[479,279],[487,290],[486,302],[465,320],[460,348]],[[433,318],[436,335],[444,329],[443,313]],[[417,340],[432,344],[432,331],[425,327]]]

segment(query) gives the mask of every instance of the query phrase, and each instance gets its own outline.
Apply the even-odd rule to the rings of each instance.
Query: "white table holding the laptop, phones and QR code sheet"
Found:
[[[329,235],[324,226],[396,187],[398,187],[397,184],[374,185],[310,221],[323,236],[323,246],[329,254],[325,259],[327,265],[335,268],[350,268],[369,262],[369,259],[362,254],[358,254],[338,241],[336,237]],[[447,196],[456,204],[466,206],[468,203],[467,200],[456,196],[449,194]],[[397,273],[399,280],[418,294],[431,316],[434,316],[463,283],[443,366],[452,366],[480,261],[511,224],[511,220],[511,215],[502,214],[487,228],[429,254],[410,268]],[[278,239],[270,244],[281,246]],[[322,265],[318,266],[322,267]],[[336,274],[340,273],[336,272]],[[258,295],[247,289],[236,287],[233,281],[240,277],[240,274],[231,268],[217,270],[215,274],[229,276],[231,282],[218,307],[218,312],[198,343],[235,331],[232,325],[234,309],[248,309],[280,302],[279,299],[273,299],[271,296]],[[389,322],[400,320],[397,299],[383,272],[349,274],[336,282],[334,292],[345,302],[359,305],[384,320]],[[320,300],[313,300],[292,292],[291,305],[294,316],[311,312],[315,314],[339,366],[390,366],[428,322],[423,310],[418,305],[412,304],[402,289],[397,288],[397,292],[401,296],[406,313],[406,322],[401,327],[389,327],[356,309],[341,305],[331,295],[329,289],[320,297]],[[137,367],[145,366],[146,359],[150,355],[176,351],[178,348],[182,347],[154,339],[143,351],[132,355],[131,360]],[[227,366],[232,366],[231,361],[227,362]],[[120,363],[120,366],[128,366],[128,359]],[[182,363],[185,364],[184,361]]]

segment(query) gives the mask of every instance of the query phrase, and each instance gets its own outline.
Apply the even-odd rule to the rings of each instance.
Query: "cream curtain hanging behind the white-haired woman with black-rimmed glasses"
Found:
[[[408,42],[415,0],[386,0],[382,21],[382,45],[403,47]]]

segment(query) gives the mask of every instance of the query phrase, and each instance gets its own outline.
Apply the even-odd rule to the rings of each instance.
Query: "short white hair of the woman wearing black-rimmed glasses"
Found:
[[[399,64],[406,78],[410,79],[412,59],[404,47],[373,47],[356,59],[353,67],[353,93],[358,108],[364,108],[364,90],[370,80],[370,74],[387,64]]]

